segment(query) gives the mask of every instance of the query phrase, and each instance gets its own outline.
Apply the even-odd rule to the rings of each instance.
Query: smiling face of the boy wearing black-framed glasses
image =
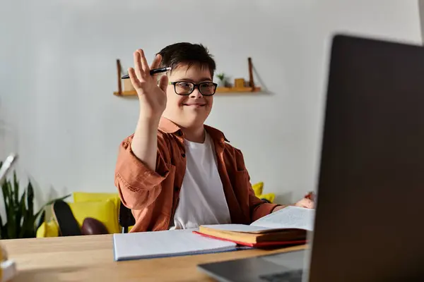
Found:
[[[201,82],[212,82],[212,75],[208,68],[196,65],[188,68],[187,65],[182,65],[169,73],[168,79],[169,82],[179,83],[176,86],[167,86],[167,104],[163,116],[183,128],[203,125],[211,112],[213,96],[204,96],[199,91],[199,87],[194,87],[194,91],[188,95],[181,94],[184,94],[184,91],[189,92],[192,83],[196,85]],[[202,92],[208,93],[208,91],[210,91],[208,85],[203,85]]]

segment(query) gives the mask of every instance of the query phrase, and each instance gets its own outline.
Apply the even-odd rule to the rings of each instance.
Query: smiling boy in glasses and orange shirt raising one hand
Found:
[[[168,66],[165,75],[149,73]],[[134,52],[129,76],[139,96],[139,121],[119,148],[115,171],[122,203],[136,219],[131,232],[249,224],[283,208],[255,197],[242,152],[204,125],[215,68],[200,44],[167,46],[150,67],[143,50]],[[295,205],[312,208],[313,202]]]

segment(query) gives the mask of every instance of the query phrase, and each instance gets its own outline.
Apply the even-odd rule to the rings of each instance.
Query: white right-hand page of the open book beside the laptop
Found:
[[[254,221],[251,226],[259,226],[261,228],[300,228],[313,231],[314,216],[314,209],[289,206]]]

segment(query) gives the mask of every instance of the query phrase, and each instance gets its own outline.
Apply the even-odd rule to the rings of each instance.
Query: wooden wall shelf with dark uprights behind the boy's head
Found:
[[[257,86],[254,85],[252,58],[248,58],[247,61],[249,63],[249,86],[248,87],[218,87],[216,89],[216,93],[230,94],[230,93],[249,93],[249,92],[260,92],[261,91],[261,87],[257,87]],[[137,95],[136,90],[129,90],[129,91],[122,90],[122,88],[123,88],[122,87],[122,80],[121,80],[122,67],[121,67],[121,62],[119,61],[119,59],[117,59],[117,75],[118,75],[118,77],[117,77],[117,79],[118,79],[118,91],[113,92],[113,94],[115,96],[119,96],[119,97],[136,96]]]

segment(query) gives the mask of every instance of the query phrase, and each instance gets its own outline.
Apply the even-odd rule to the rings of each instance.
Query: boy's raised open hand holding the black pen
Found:
[[[156,55],[149,68],[143,50],[134,52],[134,68],[129,68],[128,74],[139,96],[140,118],[159,119],[165,111],[167,76],[163,75],[158,85],[156,76],[150,74],[151,69],[158,68],[161,60],[162,57]]]

